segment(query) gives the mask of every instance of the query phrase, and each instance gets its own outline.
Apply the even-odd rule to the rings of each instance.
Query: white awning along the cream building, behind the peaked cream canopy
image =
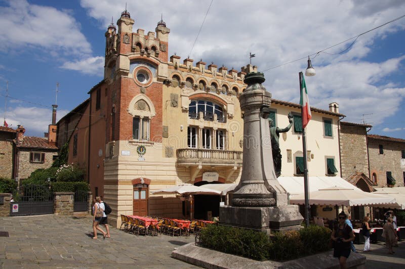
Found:
[[[304,193],[304,177],[303,176],[280,176],[277,178],[278,182],[284,189],[291,195]],[[308,191],[314,192],[319,189],[326,189],[331,187],[343,187],[347,189],[355,189],[361,191],[356,186],[345,181],[339,176],[309,176],[308,177]]]

